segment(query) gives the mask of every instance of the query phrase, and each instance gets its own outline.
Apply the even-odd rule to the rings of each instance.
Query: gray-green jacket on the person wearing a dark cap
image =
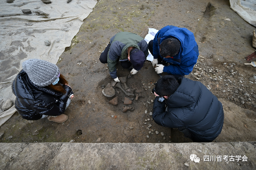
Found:
[[[112,78],[116,78],[116,63],[118,61],[127,61],[128,47],[136,47],[148,56],[148,44],[141,36],[130,32],[119,32],[110,39],[108,51],[108,69]]]

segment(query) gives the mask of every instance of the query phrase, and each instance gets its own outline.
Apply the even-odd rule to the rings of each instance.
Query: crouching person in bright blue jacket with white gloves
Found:
[[[193,33],[171,25],[156,33],[155,38],[149,41],[148,49],[153,55],[152,66],[156,73],[166,72],[177,80],[191,73],[199,55]]]

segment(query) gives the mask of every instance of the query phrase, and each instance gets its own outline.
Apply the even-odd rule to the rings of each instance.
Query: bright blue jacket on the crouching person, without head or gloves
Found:
[[[163,58],[159,53],[159,45],[163,40],[170,37],[175,37],[180,40],[181,49],[178,54],[172,58]],[[195,37],[193,33],[186,28],[168,25],[160,29],[153,39],[153,58],[160,56],[163,61],[171,64],[164,66],[163,72],[174,75],[188,75],[193,70],[193,66],[198,60],[198,55],[198,44],[196,44]]]

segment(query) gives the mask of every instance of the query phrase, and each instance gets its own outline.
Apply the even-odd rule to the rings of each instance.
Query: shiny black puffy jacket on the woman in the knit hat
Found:
[[[38,120],[42,115],[58,116],[63,114],[72,90],[64,85],[67,93],[63,94],[47,87],[33,84],[27,73],[21,70],[12,84],[16,96],[15,108],[27,120]]]

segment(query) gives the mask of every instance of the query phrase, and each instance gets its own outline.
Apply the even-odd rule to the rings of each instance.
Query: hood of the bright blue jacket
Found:
[[[175,59],[179,59],[180,56],[188,54],[195,47],[195,37],[193,33],[186,28],[170,26],[170,29],[164,33],[162,38],[160,38],[159,44],[161,44],[163,40],[170,37],[175,37],[181,42],[180,52],[178,52],[177,55],[173,56],[173,58]]]

